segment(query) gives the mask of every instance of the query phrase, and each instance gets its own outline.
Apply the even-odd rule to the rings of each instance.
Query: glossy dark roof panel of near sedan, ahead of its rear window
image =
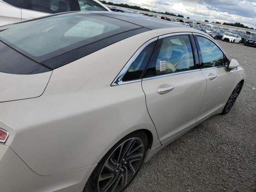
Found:
[[[119,19],[119,20],[124,20],[126,22],[140,25],[151,30],[162,29],[162,28],[173,28],[173,27],[185,27],[170,21],[153,18],[149,16],[142,16],[139,14],[118,13],[118,12],[92,12],[92,13],[108,16],[111,18]]]

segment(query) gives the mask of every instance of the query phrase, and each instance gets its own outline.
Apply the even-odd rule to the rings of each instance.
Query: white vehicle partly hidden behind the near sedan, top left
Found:
[[[110,9],[98,0],[0,0],[0,26],[69,11]]]

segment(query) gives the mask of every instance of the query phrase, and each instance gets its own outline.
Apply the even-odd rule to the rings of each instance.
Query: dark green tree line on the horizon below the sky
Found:
[[[170,16],[175,16],[175,17],[181,17],[184,18],[183,15],[181,14],[174,14],[174,13],[170,13],[170,12],[156,12],[156,11],[150,11],[149,9],[146,8],[141,8],[140,6],[136,6],[136,5],[128,5],[128,4],[123,4],[123,3],[113,3],[113,2],[106,2],[106,1],[102,1],[100,0],[100,2],[102,2],[103,4],[108,4],[111,6],[118,6],[118,7],[125,7],[125,8],[129,8],[129,9],[136,9],[136,10],[141,10],[141,11],[148,11],[148,12],[153,12],[153,13],[159,13],[159,14],[165,14],[165,15],[170,15]],[[189,19],[189,17],[187,17],[187,19]],[[205,22],[209,22],[208,20],[205,20]],[[212,22],[215,24],[221,24],[220,22]],[[246,28],[246,29],[252,29],[254,30],[254,28],[249,28],[248,26],[244,26],[244,24],[241,23],[226,23],[224,22],[222,25],[228,25],[228,26],[234,26],[234,27],[241,27],[241,28]],[[256,30],[256,29],[255,29]]]

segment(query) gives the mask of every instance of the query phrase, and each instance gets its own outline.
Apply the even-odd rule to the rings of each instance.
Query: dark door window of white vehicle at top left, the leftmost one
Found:
[[[51,14],[72,11],[70,0],[25,0],[22,8]]]

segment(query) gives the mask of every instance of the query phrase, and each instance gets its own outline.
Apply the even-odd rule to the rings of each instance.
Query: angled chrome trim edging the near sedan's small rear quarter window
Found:
[[[134,53],[134,55],[130,58],[130,60],[126,63],[126,65],[124,66],[124,68],[122,68],[122,70],[120,71],[120,73],[118,74],[118,76],[116,76],[115,80],[112,82],[111,86],[117,86],[117,85],[123,85],[123,84],[128,84],[128,83],[134,83],[134,82],[140,82],[142,81],[142,79],[137,79],[137,80],[131,80],[131,81],[122,81],[122,78],[124,77],[124,75],[126,74],[126,72],[128,71],[128,69],[130,68],[131,64],[134,62],[134,60],[138,57],[138,55],[140,54],[140,52],[142,52],[142,50],[148,46],[150,43],[154,42],[158,40],[158,37],[153,38],[149,41],[147,41],[146,43],[144,43],[142,46],[140,46],[140,48]]]

